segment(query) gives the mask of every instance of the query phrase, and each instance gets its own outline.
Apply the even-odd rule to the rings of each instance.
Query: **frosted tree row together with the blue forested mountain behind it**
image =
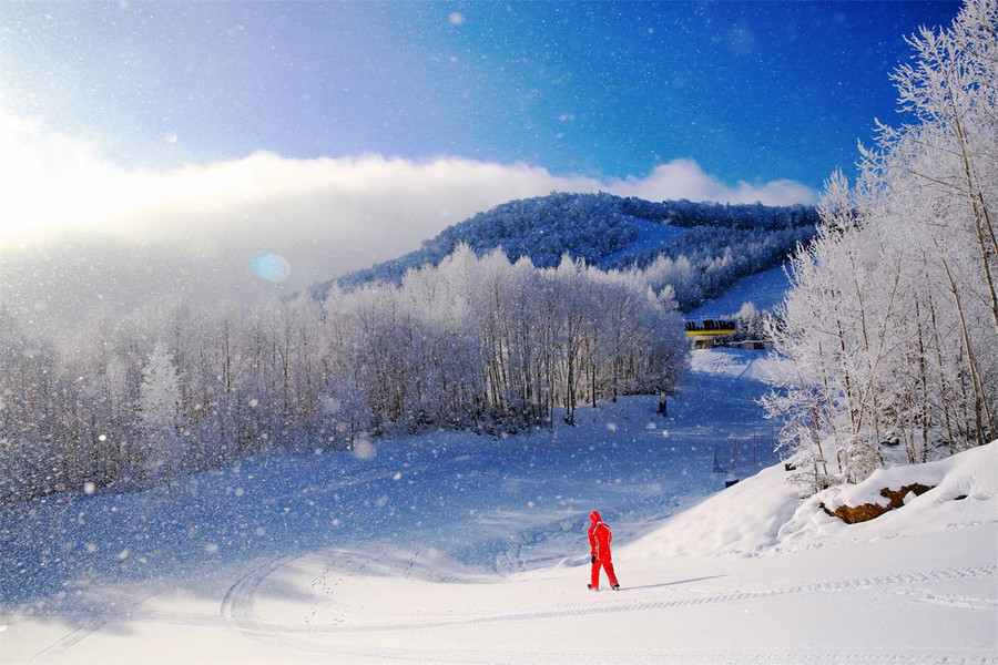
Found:
[[[248,309],[156,300],[65,335],[0,309],[0,500],[169,484],[435,427],[509,432],[672,391],[679,311],[784,259],[815,219],[800,205],[551,194]]]

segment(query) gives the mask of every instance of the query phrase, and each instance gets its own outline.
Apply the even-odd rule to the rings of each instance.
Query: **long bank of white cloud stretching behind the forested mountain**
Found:
[[[646,177],[602,181],[521,163],[376,154],[295,160],[257,152],[129,170],[103,160],[93,142],[2,111],[0,154],[0,303],[43,303],[43,294],[50,307],[81,303],[81,289],[125,304],[173,291],[211,300],[301,289],[414,249],[499,203],[552,191],[767,204],[816,197],[792,181],[729,186],[692,160],[659,165]],[[286,282],[275,287],[253,276],[251,260],[262,252],[288,262]]]

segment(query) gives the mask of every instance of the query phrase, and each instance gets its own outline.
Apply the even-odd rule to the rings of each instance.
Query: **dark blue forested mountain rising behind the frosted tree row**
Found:
[[[461,244],[476,254],[502,249],[554,267],[563,254],[604,269],[648,270],[649,283],[671,287],[688,311],[746,275],[782,262],[806,243],[818,222],[805,205],[653,203],[611,194],[553,193],[511,201],[455,224],[410,254],[345,275],[340,286],[400,282],[409,269],[437,265]],[[313,287],[325,296],[334,282]]]

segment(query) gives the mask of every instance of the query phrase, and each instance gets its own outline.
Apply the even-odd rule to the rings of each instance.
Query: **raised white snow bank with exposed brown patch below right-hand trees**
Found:
[[[806,500],[786,482],[783,464],[743,480],[664,525],[622,554],[661,556],[751,555],[771,548],[811,549],[836,541],[879,540],[998,522],[998,441],[926,464],[877,470],[865,482],[831,488]],[[910,495],[903,508],[860,524],[829,516],[822,504],[886,504],[882,488],[920,483],[934,487]],[[960,499],[964,497],[964,499]]]

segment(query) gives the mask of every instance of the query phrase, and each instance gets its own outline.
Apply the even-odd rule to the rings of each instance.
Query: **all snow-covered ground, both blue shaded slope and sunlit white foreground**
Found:
[[[847,526],[767,459],[762,359],[694,352],[668,418],[627,398],[3,509],[0,661],[998,661],[998,446]],[[592,509],[621,592],[585,589]]]

